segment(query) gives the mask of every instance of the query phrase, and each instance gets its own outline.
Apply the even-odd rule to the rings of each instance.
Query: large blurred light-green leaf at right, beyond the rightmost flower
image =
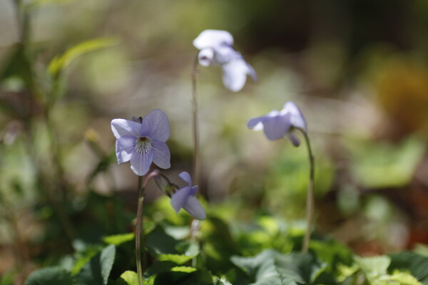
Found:
[[[347,142],[352,153],[352,174],[365,187],[400,187],[414,175],[426,149],[424,141],[407,138],[399,145],[388,142]]]

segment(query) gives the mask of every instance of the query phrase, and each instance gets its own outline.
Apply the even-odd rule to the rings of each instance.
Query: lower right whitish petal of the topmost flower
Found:
[[[247,81],[247,74],[250,73],[247,63],[243,58],[234,59],[222,65],[223,69],[223,84],[226,88],[233,92],[241,90],[245,81]]]

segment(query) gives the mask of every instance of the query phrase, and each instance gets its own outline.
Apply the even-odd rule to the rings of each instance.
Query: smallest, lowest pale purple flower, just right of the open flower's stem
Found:
[[[195,198],[198,186],[192,186],[192,180],[188,172],[181,172],[178,176],[184,182],[187,182],[188,185],[181,187],[171,196],[171,205],[175,209],[175,212],[179,212],[183,208],[195,217],[195,219],[205,219],[207,217],[205,209],[203,209],[198,199]]]

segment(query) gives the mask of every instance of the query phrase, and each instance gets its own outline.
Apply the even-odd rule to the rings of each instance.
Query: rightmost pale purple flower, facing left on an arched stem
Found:
[[[293,102],[287,102],[282,110],[272,110],[267,115],[248,120],[248,128],[252,130],[263,130],[268,140],[278,140],[285,135],[296,147],[300,141],[292,133],[298,128],[307,133],[307,124],[302,112]]]

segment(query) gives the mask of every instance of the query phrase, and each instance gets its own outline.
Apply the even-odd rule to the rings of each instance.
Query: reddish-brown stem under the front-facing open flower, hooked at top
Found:
[[[146,254],[143,252],[143,259],[141,259],[141,241],[145,241],[144,227],[143,227],[143,201],[144,192],[148,180],[152,177],[159,175],[159,172],[154,170],[146,177],[138,176],[138,208],[137,208],[137,224],[136,224],[136,261],[137,261],[137,274],[138,285],[143,285],[143,271],[146,268]]]

